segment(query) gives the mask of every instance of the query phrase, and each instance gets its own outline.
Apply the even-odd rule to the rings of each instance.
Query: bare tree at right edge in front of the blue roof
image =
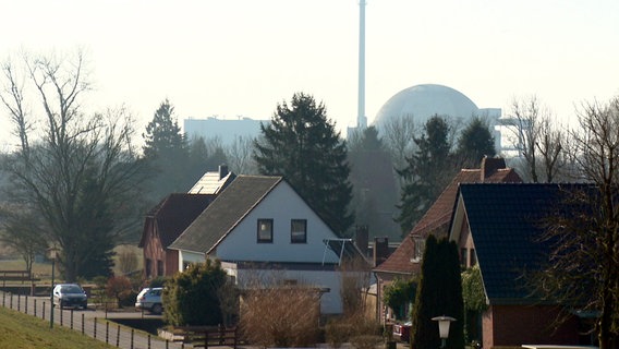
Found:
[[[543,240],[553,243],[553,253],[535,281],[554,300],[598,314],[599,348],[617,348],[619,97],[585,105],[579,119],[581,129],[570,133],[572,157],[581,179],[592,184],[568,193],[560,212],[547,219]]]

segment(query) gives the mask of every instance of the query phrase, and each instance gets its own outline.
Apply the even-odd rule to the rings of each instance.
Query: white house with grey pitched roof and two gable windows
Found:
[[[323,290],[320,311],[342,312],[342,256],[362,256],[338,239],[282,177],[239,176],[170,245],[179,270],[217,258],[242,287],[277,274],[287,284]]]

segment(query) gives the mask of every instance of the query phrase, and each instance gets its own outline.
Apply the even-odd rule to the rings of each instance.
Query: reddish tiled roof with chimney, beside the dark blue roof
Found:
[[[415,225],[400,246],[380,265],[377,273],[415,274],[421,270],[421,263],[411,262],[414,243],[413,237],[426,238],[428,234],[445,236],[449,228],[458,185],[460,183],[521,183],[522,179],[511,169],[506,168],[503,159],[485,158],[480,169],[462,169],[442,191],[426,214]]]

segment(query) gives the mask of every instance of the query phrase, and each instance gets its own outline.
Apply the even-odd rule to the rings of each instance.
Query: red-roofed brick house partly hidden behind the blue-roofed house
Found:
[[[482,159],[478,169],[462,169],[451,183],[442,191],[440,196],[420,219],[413,230],[404,238],[393,253],[380,265],[374,268],[377,279],[377,317],[383,322],[392,320],[391,310],[383,304],[383,291],[396,278],[411,278],[421,273],[421,258],[425,239],[429,234],[447,237],[453,203],[460,183],[497,183],[522,182],[518,173],[506,166],[502,158]],[[404,310],[408,313],[409,310]]]

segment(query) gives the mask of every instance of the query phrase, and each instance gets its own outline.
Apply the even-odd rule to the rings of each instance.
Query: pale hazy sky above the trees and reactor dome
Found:
[[[295,92],[339,130],[357,108],[359,1],[0,0],[0,55],[87,49],[96,106],[144,127],[167,97],[184,118],[269,119]],[[366,116],[417,84],[478,107],[536,95],[557,117],[619,94],[617,0],[367,0]],[[2,109],[0,120],[5,125]],[[5,129],[5,128],[2,128]],[[4,143],[4,142],[3,142]]]

